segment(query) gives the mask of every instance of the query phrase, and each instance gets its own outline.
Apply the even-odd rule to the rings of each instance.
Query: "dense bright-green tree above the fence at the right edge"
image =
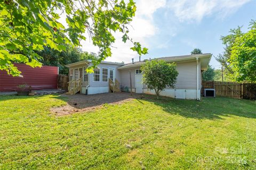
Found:
[[[236,37],[228,60],[228,67],[233,70],[230,75],[238,82],[256,82],[256,21],[250,23],[249,29]]]

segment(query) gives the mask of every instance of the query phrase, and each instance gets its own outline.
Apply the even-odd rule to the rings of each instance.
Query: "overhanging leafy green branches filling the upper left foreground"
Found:
[[[81,40],[91,39],[99,47],[97,60],[87,71],[111,56],[111,45],[115,42],[114,32],[122,33],[124,43],[130,40],[132,50],[139,55],[147,48],[129,37],[129,28],[135,16],[133,0],[125,3],[106,0],[4,0],[0,3],[0,70],[12,75],[20,71],[13,62],[30,66],[41,66],[41,56],[36,52],[44,46],[59,51],[66,50],[65,44],[81,46]],[[67,27],[59,19],[66,15]],[[86,38],[88,33],[89,38]]]

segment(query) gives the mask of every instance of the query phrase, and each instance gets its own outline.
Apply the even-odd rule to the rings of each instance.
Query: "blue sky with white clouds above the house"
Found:
[[[223,52],[220,37],[229,30],[243,26],[247,31],[252,19],[256,20],[256,0],[135,0],[137,11],[131,22],[130,37],[148,48],[141,59],[188,55],[194,48],[217,56]],[[105,61],[130,63],[139,55],[122,42],[116,32],[116,43],[111,57]],[[82,41],[87,52],[98,52],[89,40]],[[212,56],[210,65],[220,64]]]

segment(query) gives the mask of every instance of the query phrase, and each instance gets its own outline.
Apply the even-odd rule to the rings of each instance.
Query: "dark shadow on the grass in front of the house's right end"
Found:
[[[201,101],[183,100],[162,97],[160,100],[146,99],[163,111],[170,114],[178,114],[188,118],[197,119],[221,119],[222,116],[241,116],[256,118],[256,102],[233,98],[202,98]]]

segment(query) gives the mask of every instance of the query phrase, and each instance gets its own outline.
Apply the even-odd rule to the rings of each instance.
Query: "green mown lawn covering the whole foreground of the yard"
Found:
[[[146,96],[55,116],[58,95],[0,96],[0,169],[256,169],[256,103]]]

